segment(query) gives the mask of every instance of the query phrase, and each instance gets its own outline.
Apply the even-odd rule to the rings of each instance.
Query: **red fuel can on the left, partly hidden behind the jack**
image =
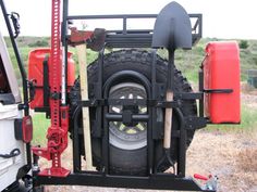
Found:
[[[35,82],[35,97],[29,103],[30,108],[44,107],[44,67],[42,62],[46,55],[50,55],[51,49],[40,48],[33,50],[28,55],[28,80]],[[48,66],[51,65],[51,57],[49,59]],[[72,53],[68,53],[68,91],[75,81],[75,62],[72,59]]]

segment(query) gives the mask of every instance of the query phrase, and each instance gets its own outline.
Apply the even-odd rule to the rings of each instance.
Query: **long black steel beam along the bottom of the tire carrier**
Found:
[[[110,176],[95,172],[71,174],[66,178],[49,178],[37,176],[36,185],[39,184],[71,184],[71,185],[97,185],[107,188],[131,188],[176,191],[206,191],[192,178],[180,178],[168,174],[158,174],[149,177]]]

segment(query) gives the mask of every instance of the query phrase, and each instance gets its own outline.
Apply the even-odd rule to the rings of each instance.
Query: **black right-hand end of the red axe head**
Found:
[[[105,47],[105,42],[106,42],[106,29],[96,28],[89,41],[87,41],[87,46],[93,51],[100,51]]]

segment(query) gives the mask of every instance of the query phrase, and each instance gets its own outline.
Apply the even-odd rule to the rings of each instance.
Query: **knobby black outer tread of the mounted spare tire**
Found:
[[[146,77],[150,77],[149,75],[149,67],[151,64],[151,57],[152,54],[148,51],[143,51],[143,50],[136,50],[136,49],[130,49],[130,50],[119,50],[114,51],[111,53],[108,53],[105,55],[103,61],[105,61],[105,72],[111,72],[113,69],[115,71],[124,71],[124,69],[132,69],[132,71],[139,71],[143,75]],[[125,63],[135,63],[136,65],[124,65]],[[168,61],[161,59],[160,56],[157,56],[157,81],[158,82],[163,82],[166,81],[167,77],[167,66],[168,66]],[[88,65],[87,67],[88,71],[88,82],[97,82],[97,71],[98,71],[98,60],[93,62],[91,64]],[[108,76],[108,75],[107,75]],[[103,81],[107,80],[108,77],[103,77]],[[174,71],[174,81],[175,81],[175,91],[178,92],[192,92],[192,87],[188,84],[187,79],[182,76],[182,73],[175,68]],[[89,90],[89,92],[93,92]],[[77,103],[76,101],[79,99],[79,81],[76,80],[74,87],[71,89],[71,94],[70,94],[70,101],[71,101],[71,115],[74,113],[74,108],[76,107]],[[94,97],[91,93],[89,95],[90,98]],[[187,100],[187,101],[181,101],[182,103],[182,113],[184,116],[195,116],[197,114],[197,108],[196,108],[196,102],[195,100]],[[194,137],[194,130],[187,131],[187,140],[186,144],[187,146],[189,145],[192,139]],[[173,152],[171,150],[171,152]],[[174,155],[174,158],[176,158],[176,155]],[[96,164],[98,167],[100,167],[100,159],[95,158]],[[168,168],[168,167],[167,167]],[[136,172],[131,169],[130,170],[124,170],[122,167],[114,167],[112,166],[111,169],[114,172],[118,174],[127,174],[127,175],[140,175],[140,172],[145,171],[145,168],[136,169]]]

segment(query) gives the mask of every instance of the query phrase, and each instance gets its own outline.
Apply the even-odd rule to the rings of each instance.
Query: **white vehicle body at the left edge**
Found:
[[[2,191],[16,181],[19,169],[26,165],[26,154],[25,143],[15,139],[14,120],[23,116],[23,112],[19,111],[17,107],[22,100],[17,79],[1,33],[0,65],[2,71],[0,72],[0,76],[2,73],[2,78],[0,78],[2,81],[2,84],[0,82],[0,155],[10,154],[14,149],[19,149],[21,152],[14,157],[0,156],[0,191]],[[8,91],[3,88],[3,85],[9,86]]]

